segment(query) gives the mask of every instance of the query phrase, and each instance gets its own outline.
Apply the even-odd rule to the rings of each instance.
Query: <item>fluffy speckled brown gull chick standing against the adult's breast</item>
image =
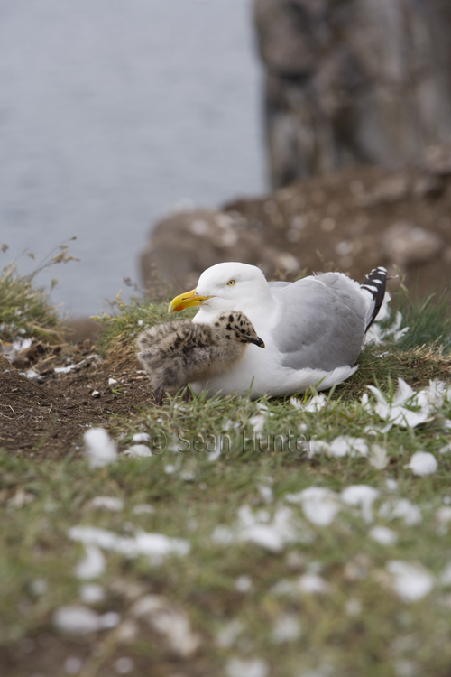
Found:
[[[138,359],[151,376],[159,405],[165,391],[176,393],[190,381],[235,367],[249,343],[264,348],[251,321],[235,311],[222,313],[211,324],[165,322],[143,331],[137,343]]]

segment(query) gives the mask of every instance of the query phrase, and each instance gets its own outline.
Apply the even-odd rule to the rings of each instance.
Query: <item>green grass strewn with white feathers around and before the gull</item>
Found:
[[[117,314],[103,318],[105,355],[128,364],[133,359],[130,337],[165,320],[166,309],[166,304],[118,300]],[[443,403],[431,421],[414,429],[395,425],[373,435],[368,428],[381,429],[382,422],[361,402],[369,384],[390,397],[397,376],[416,390],[429,378],[449,379],[450,326],[443,308],[437,310],[429,301],[404,312],[410,326],[406,337],[365,348],[359,371],[327,394],[318,412],[295,408],[290,400],[254,403],[199,396],[181,403],[175,397],[159,409],[116,417],[113,423],[111,434],[121,449],[133,444],[133,434],[146,432],[151,458],[121,456],[105,468],[89,468],[86,459],[74,455],[37,463],[0,452],[1,643],[20,654],[21,647],[30,648],[23,644],[28,639],[39,654],[42,634],[56,633],[55,611],[81,603],[85,582],[74,568],[84,551],[69,540],[68,530],[85,524],[124,536],[143,529],[182,538],[190,552],[160,565],[144,556],[105,552],[106,570],[96,580],[104,598],[91,607],[98,614],[114,611],[119,629],[128,624],[136,631],[126,641],[117,627],[75,640],[56,633],[62,648],[52,674],[60,674],[61,661],[75,656],[83,677],[111,675],[115,661],[126,656],[133,660],[133,675],[151,669],[157,675],[234,677],[251,674],[250,662],[258,659],[263,663],[255,674],[262,676],[445,677],[451,662],[451,589],[442,574],[451,562],[451,548],[439,511],[451,503],[451,452],[439,450],[449,443],[444,422],[451,419],[451,403]],[[306,395],[303,402],[309,399]],[[349,455],[308,458],[309,441],[331,442],[342,435],[362,438],[370,448],[374,443],[383,447],[386,468],[377,470],[369,458]],[[416,451],[435,455],[436,473],[413,476],[406,466]],[[308,487],[339,495],[352,485],[378,490],[372,523],[360,507],[341,502],[335,519],[320,526],[308,519],[302,505],[287,499]],[[120,498],[123,509],[95,508],[96,496]],[[418,506],[419,524],[380,512],[399,498]],[[137,505],[151,505],[152,512],[137,514]],[[262,525],[271,525],[281,509],[290,508],[292,539],[279,551],[245,540],[239,526],[243,506]],[[396,543],[374,541],[374,525],[390,528]],[[218,532],[218,526],[226,530]],[[434,579],[429,593],[411,603],[400,598],[393,589],[391,561],[426,570]],[[322,593],[299,589],[299,580],[305,584],[302,577],[311,581],[312,575],[323,581]],[[141,597],[157,594],[184,609],[200,637],[197,654],[178,659],[164,634],[136,621],[131,591],[137,585]],[[414,585],[412,580],[410,588]],[[23,661],[25,654],[23,649]],[[241,672],[236,672],[237,660],[244,662]],[[29,673],[17,669],[9,674]]]

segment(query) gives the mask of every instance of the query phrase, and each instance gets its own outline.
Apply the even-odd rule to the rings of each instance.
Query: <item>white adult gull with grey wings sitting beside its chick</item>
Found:
[[[236,366],[194,382],[194,392],[277,397],[345,381],[358,368],[354,363],[382,305],[386,274],[375,268],[362,284],[341,273],[268,283],[254,265],[207,268],[196,289],[173,299],[169,311],[198,306],[192,321],[207,324],[220,312],[243,312],[265,349],[248,346]]]

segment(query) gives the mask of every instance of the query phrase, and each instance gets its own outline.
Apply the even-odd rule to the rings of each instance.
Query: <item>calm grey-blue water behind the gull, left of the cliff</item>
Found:
[[[37,283],[72,314],[138,280],[180,202],[264,187],[251,0],[0,0],[0,268],[71,236]],[[23,255],[20,272],[32,261]],[[181,291],[181,290],[180,290]]]

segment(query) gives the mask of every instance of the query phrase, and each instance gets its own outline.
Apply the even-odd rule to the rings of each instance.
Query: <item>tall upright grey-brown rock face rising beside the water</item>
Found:
[[[272,186],[451,139],[446,0],[255,0]]]

